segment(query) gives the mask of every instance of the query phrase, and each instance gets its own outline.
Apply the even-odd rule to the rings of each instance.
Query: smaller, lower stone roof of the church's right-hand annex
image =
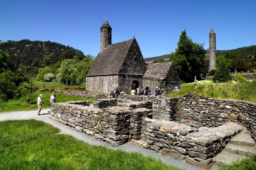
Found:
[[[145,71],[145,77],[166,78],[173,62],[149,63]]]

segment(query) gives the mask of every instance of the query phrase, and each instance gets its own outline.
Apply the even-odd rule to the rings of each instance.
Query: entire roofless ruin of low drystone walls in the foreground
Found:
[[[240,133],[241,125],[256,139],[255,103],[194,94],[174,99],[154,97],[154,102],[149,99],[154,99],[151,96],[131,98],[140,102],[99,99],[94,102],[97,108],[83,106],[83,102],[54,103],[51,116],[113,146],[144,141],[140,147],[205,169]]]

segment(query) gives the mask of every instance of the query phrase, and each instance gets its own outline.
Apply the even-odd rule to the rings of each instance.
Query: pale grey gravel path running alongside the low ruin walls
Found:
[[[37,115],[37,111],[15,111],[15,112],[7,112],[7,113],[0,113],[0,121],[5,120],[21,120],[21,119],[36,119],[39,121],[44,121],[49,123],[50,125],[53,125],[55,127],[58,127],[61,130],[61,133],[71,135],[75,137],[78,140],[81,140],[83,142],[86,142],[88,144],[92,145],[102,145],[105,147],[108,147],[110,149],[115,150],[124,150],[127,152],[136,152],[141,153],[144,156],[150,156],[154,159],[160,159],[162,162],[166,164],[172,164],[173,166],[179,167],[180,169],[185,170],[203,170],[199,167],[193,166],[192,164],[186,163],[185,161],[178,161],[175,159],[172,159],[168,156],[163,156],[160,153],[156,153],[153,150],[144,149],[142,147],[137,147],[133,144],[126,143],[119,145],[117,147],[113,147],[111,144],[108,144],[106,142],[99,141],[92,136],[87,135],[86,133],[79,132],[77,130],[73,130],[71,127],[61,124],[60,122],[57,122],[55,120],[52,120],[49,118],[48,111],[49,109],[42,109],[41,114]],[[218,166],[214,165],[210,170],[217,170]]]

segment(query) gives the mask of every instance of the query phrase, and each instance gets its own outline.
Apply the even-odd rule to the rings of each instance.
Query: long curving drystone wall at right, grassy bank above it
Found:
[[[153,118],[165,118],[191,127],[218,127],[226,122],[237,122],[250,130],[256,140],[256,103],[253,102],[186,94],[158,100]]]

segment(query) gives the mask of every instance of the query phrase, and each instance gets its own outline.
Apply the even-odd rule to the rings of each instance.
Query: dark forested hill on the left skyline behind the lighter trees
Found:
[[[50,41],[8,41],[0,43],[0,49],[9,54],[16,66],[22,64],[41,68],[64,59],[73,59],[74,56],[79,60],[85,57],[80,50]]]

